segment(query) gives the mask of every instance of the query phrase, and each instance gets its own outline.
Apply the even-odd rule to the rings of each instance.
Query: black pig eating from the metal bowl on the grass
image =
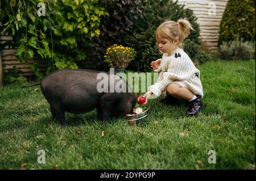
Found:
[[[110,76],[117,75],[106,73],[108,79],[104,79],[103,82],[107,83],[108,91],[98,92],[97,85],[102,82],[101,79],[97,79],[99,73],[101,71],[84,69],[57,70],[42,81],[22,88],[40,84],[43,95],[50,104],[52,117],[56,117],[64,125],[67,125],[65,111],[79,114],[96,108],[97,117],[102,121],[109,120],[113,116],[132,113],[137,96],[131,92],[129,85],[123,79],[109,81]],[[126,91],[109,92],[110,87],[113,88],[118,81],[126,85]]]

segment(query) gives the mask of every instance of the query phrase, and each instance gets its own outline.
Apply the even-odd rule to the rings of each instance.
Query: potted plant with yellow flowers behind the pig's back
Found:
[[[133,48],[114,44],[106,50],[104,61],[111,68],[115,69],[116,74],[118,72],[124,72],[130,62],[134,60],[135,55],[136,52]]]

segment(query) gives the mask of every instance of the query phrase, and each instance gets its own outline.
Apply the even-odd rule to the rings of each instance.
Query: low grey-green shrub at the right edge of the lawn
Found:
[[[220,58],[225,60],[249,60],[255,58],[255,41],[239,40],[223,42],[219,49]]]

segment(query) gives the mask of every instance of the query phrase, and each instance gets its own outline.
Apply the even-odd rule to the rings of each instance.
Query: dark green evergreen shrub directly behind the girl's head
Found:
[[[196,16],[193,11],[184,9],[177,1],[170,0],[148,0],[144,2],[144,16],[139,19],[139,24],[135,27],[133,35],[127,35],[125,45],[133,47],[137,51],[137,56],[133,64],[127,69],[135,71],[152,70],[150,62],[158,59],[162,54],[155,49],[156,40],[154,37],[156,28],[166,20],[177,21],[181,18],[187,18],[192,24],[195,31],[191,31],[190,35],[184,40],[184,50],[188,53],[192,60],[197,60],[200,55],[199,39],[200,29],[196,22]]]

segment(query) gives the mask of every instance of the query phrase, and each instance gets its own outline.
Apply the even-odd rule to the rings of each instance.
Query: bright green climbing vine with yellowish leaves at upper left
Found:
[[[108,16],[105,1],[2,0],[1,32],[13,35],[20,61],[46,58],[47,72],[77,68],[77,63],[86,58],[90,39],[100,35],[101,18]],[[32,69],[42,76],[38,65]]]

